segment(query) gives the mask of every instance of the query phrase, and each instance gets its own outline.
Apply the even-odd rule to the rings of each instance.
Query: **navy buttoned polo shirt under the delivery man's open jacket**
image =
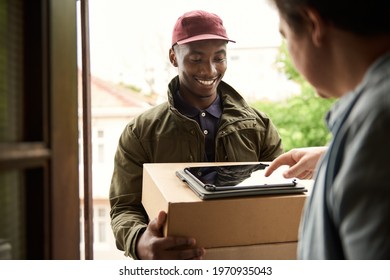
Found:
[[[219,94],[214,102],[206,109],[199,110],[189,104],[177,91],[173,95],[176,109],[186,117],[195,120],[205,136],[205,160],[215,161],[215,135],[219,119],[222,115],[222,104]]]

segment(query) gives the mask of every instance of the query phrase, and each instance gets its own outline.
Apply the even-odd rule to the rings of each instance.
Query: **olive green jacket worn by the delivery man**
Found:
[[[141,204],[143,164],[204,161],[200,126],[174,108],[172,93],[178,88],[176,77],[168,86],[168,102],[133,119],[119,139],[109,193],[111,226],[117,248],[134,259],[138,234],[149,221]],[[224,82],[218,92],[223,112],[216,133],[215,161],[271,161],[282,153],[279,134],[264,113],[250,108]]]

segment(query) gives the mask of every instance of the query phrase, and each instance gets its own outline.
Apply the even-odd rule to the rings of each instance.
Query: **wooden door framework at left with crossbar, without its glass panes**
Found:
[[[0,142],[0,171],[23,177],[26,258],[80,259],[76,1],[12,7],[23,22],[23,59],[7,58],[23,68],[21,135]]]

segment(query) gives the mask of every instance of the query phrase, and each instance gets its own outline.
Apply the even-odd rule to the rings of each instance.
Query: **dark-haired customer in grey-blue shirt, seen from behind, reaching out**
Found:
[[[267,172],[299,163],[292,173],[304,177],[321,158],[298,256],[390,259],[390,2],[272,2],[296,68],[321,97],[339,98],[328,149],[291,151]]]

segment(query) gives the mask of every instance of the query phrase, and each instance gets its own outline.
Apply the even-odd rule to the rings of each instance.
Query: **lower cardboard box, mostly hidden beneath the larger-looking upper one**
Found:
[[[206,249],[205,260],[296,260],[297,242]]]

